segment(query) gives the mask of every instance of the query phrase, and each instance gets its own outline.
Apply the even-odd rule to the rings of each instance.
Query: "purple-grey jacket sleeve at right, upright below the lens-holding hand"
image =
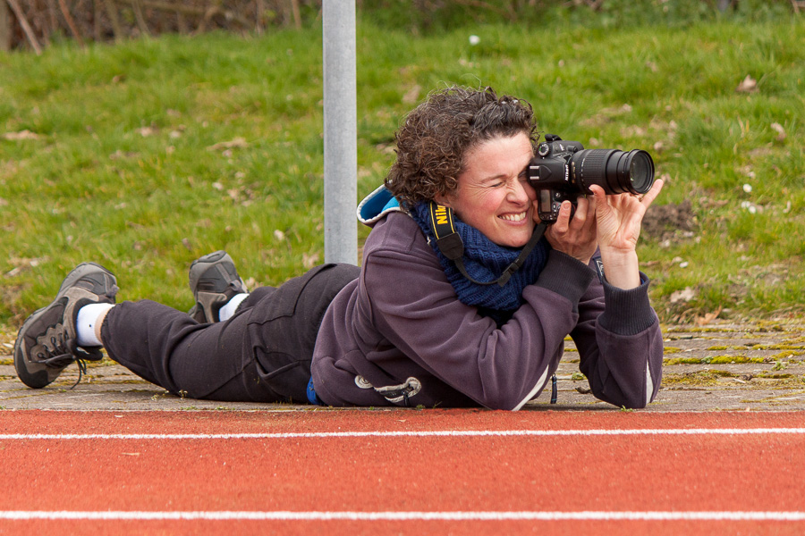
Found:
[[[662,380],[662,332],[643,273],[640,283],[623,290],[596,278],[580,300],[579,322],[571,331],[592,393],[627,408],[647,406]]]

